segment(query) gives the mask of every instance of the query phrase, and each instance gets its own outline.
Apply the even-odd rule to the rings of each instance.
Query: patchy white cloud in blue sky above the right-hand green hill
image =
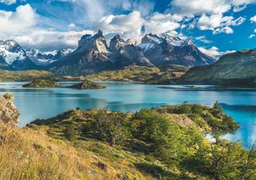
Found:
[[[245,20],[246,18],[239,17],[234,19],[232,16],[223,16],[222,14],[213,14],[210,16],[202,14],[198,19],[197,26],[200,30],[213,30],[214,34],[232,34],[233,30],[230,26],[239,26]]]

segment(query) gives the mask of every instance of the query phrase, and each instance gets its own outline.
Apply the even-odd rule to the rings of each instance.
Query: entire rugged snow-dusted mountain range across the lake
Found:
[[[78,76],[125,66],[203,66],[215,62],[203,54],[190,38],[171,34],[146,34],[139,45],[115,35],[107,45],[101,30],[85,34],[75,50],[52,52],[24,50],[14,40],[0,42],[0,69],[50,70],[55,74]]]

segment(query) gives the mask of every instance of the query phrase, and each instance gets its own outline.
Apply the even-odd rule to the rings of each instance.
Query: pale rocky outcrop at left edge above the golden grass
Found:
[[[19,122],[20,114],[11,99],[0,95],[0,120],[2,122]]]

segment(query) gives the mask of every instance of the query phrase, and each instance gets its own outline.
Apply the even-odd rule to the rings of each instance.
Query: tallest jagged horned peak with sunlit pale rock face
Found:
[[[98,34],[86,34],[78,42],[78,48],[73,53],[54,62],[50,70],[61,75],[82,75],[110,70],[113,63],[108,58],[108,46],[98,30]]]

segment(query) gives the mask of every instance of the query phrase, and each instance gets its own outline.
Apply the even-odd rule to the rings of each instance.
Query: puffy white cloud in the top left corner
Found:
[[[0,10],[0,34],[22,33],[24,30],[34,26],[37,23],[38,15],[34,9],[26,4],[18,6],[16,11]]]

